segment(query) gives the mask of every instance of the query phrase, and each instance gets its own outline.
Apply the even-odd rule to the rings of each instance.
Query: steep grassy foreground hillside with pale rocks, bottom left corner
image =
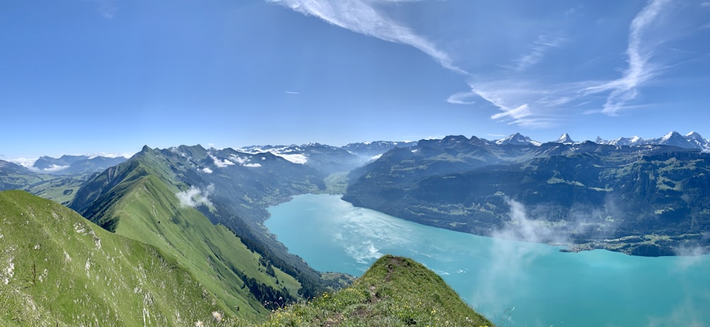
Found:
[[[193,326],[224,311],[155,247],[23,191],[0,192],[1,326]]]

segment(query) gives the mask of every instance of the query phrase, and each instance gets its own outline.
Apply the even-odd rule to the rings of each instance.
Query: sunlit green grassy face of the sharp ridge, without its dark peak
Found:
[[[267,311],[251,296],[235,270],[274,289],[286,286],[296,294],[299,284],[293,277],[275,269],[279,281],[276,284],[276,278],[265,273],[258,254],[248,250],[226,227],[212,225],[193,208],[181,207],[175,196],[177,191],[155,176],[133,183],[109,213],[119,218],[116,234],[175,255],[220,299],[226,311],[239,311],[239,316],[257,318]]]

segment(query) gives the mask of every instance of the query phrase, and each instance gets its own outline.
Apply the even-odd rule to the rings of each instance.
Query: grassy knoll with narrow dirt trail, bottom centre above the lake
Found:
[[[385,256],[346,289],[276,311],[263,326],[493,326],[437,274]]]

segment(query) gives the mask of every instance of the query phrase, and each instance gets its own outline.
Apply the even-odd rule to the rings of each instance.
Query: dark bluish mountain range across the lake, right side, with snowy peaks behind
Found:
[[[537,242],[638,255],[710,250],[710,154],[697,148],[702,140],[677,133],[638,146],[567,134],[545,144],[520,134],[425,139],[351,171],[343,199],[477,235],[525,225]],[[526,208],[525,224],[515,220],[516,205]]]

